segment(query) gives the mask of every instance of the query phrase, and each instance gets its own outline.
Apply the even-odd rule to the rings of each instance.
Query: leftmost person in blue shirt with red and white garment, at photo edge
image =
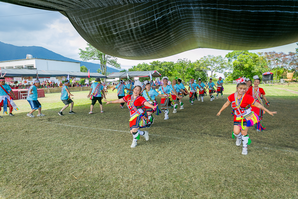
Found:
[[[9,107],[8,115],[14,116],[12,113],[13,109],[18,110],[18,107],[13,102],[13,99],[15,99],[15,94],[11,90],[10,86],[8,84],[5,84],[5,78],[1,75],[1,78],[0,78],[0,112],[1,112],[1,107],[3,106],[3,114],[7,114],[7,107]],[[2,116],[0,116],[0,118],[2,118]]]

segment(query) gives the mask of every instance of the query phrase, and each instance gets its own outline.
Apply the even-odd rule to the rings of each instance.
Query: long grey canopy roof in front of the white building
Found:
[[[31,70],[31,69],[1,69],[2,75],[6,73],[5,77],[36,77],[36,71],[39,78],[44,77],[66,77],[69,74],[69,77],[79,77],[79,78],[88,78],[88,72],[67,72],[67,71],[58,71],[58,70]],[[105,75],[90,72],[90,77],[99,77],[106,78]]]

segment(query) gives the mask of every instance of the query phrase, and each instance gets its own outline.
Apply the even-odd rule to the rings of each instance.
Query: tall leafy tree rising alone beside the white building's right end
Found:
[[[80,58],[84,61],[88,61],[90,59],[100,60],[100,70],[103,75],[107,74],[107,64],[110,64],[116,68],[121,68],[120,64],[117,62],[116,57],[100,52],[99,50],[91,46],[91,44],[87,45],[88,47],[86,47],[86,50],[79,49]]]

